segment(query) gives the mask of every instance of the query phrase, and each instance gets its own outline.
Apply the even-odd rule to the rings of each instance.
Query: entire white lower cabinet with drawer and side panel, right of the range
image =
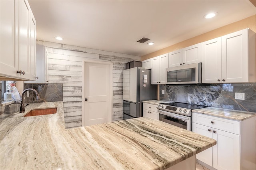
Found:
[[[196,159],[218,170],[256,168],[255,117],[233,121],[192,113],[192,122],[193,132],[217,141],[213,147],[196,154]]]

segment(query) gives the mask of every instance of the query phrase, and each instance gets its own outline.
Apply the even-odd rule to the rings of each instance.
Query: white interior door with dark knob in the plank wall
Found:
[[[112,121],[111,72],[109,63],[84,63],[84,126]]]

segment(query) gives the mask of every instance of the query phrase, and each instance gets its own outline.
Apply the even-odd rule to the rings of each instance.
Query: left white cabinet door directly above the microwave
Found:
[[[169,58],[168,67],[175,67],[175,66],[182,65],[183,49],[170,52],[168,58]]]

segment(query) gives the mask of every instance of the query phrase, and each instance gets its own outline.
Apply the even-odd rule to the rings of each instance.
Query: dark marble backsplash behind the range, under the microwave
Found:
[[[164,95],[162,90],[165,91]],[[245,99],[235,99],[235,93],[244,93]],[[160,85],[160,99],[256,112],[256,83],[211,84],[210,86]]]

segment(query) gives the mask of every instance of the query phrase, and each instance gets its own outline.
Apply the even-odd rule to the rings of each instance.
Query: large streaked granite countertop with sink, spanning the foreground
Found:
[[[210,148],[216,140],[150,118],[66,129],[62,102],[57,113],[0,124],[0,169],[165,169]]]

